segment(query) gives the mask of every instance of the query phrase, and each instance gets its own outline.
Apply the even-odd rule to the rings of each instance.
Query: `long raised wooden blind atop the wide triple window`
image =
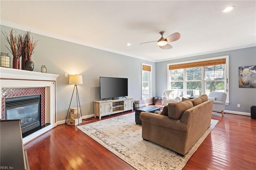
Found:
[[[169,65],[169,70],[186,69],[186,68],[192,68],[192,67],[203,67],[203,66],[219,65],[219,64],[226,64],[226,58],[212,59],[208,61],[198,61],[194,63]]]

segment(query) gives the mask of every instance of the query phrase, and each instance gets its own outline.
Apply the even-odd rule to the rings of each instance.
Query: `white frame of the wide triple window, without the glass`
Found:
[[[226,98],[226,105],[229,104],[229,61],[228,61],[228,58],[229,56],[228,55],[225,55],[225,56],[220,56],[220,57],[211,57],[211,58],[207,58],[207,59],[198,59],[198,60],[192,60],[192,61],[184,61],[184,62],[178,62],[178,63],[169,63],[167,64],[167,88],[168,89],[171,89],[170,87],[170,82],[171,82],[171,79],[170,79],[170,65],[178,65],[178,64],[187,64],[187,63],[194,63],[194,62],[200,62],[200,61],[209,61],[209,60],[215,60],[215,59],[226,59],[226,63],[224,64],[225,65],[225,79],[224,79],[224,89],[226,90],[225,93],[227,94],[227,98]],[[218,65],[218,64],[216,64]],[[207,82],[205,80],[205,66],[202,66],[202,89],[204,88],[205,90],[205,83]],[[192,67],[190,67],[192,68]],[[186,91],[186,68],[184,68],[184,78],[183,78],[183,92]],[[203,94],[203,93],[202,93]]]

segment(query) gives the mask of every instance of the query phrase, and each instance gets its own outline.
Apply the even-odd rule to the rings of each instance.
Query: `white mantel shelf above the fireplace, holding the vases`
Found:
[[[0,79],[56,81],[59,75],[0,67]]]

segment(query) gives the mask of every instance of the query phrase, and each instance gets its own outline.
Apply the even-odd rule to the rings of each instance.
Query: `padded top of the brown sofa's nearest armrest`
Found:
[[[158,115],[155,113],[141,112],[140,120],[143,122],[148,122],[161,127],[171,128],[178,131],[187,131],[187,125],[180,122],[180,119],[172,119],[168,116]]]

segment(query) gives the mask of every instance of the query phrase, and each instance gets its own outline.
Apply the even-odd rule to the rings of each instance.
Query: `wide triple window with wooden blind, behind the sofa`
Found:
[[[168,89],[179,91],[180,97],[209,95],[211,91],[227,93],[228,56],[168,65]]]

